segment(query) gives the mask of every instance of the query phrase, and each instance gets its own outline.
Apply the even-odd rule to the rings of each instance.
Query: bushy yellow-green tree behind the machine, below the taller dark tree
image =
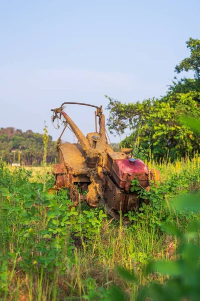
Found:
[[[194,98],[200,99],[200,92],[171,95],[167,102],[153,98],[122,104],[108,97],[109,130],[120,134],[129,128],[131,135],[121,142],[122,146],[132,147],[139,139],[142,148],[150,145],[157,159],[167,154],[172,160],[191,155],[199,150],[200,139],[179,122],[178,116],[189,115],[199,120],[200,106]]]

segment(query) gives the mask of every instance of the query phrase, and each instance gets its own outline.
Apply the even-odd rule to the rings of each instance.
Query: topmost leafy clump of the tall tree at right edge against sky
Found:
[[[184,58],[178,65],[175,66],[175,72],[194,71],[194,78],[200,78],[200,40],[189,38],[186,41],[187,48],[190,49],[190,57]]]

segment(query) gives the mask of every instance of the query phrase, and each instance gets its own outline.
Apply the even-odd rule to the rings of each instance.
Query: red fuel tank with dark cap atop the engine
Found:
[[[112,177],[120,188],[129,190],[131,181],[137,178],[142,188],[149,186],[149,171],[139,159],[116,160],[112,167]]]

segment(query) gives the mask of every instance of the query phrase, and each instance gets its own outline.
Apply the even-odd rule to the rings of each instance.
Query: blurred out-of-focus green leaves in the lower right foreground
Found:
[[[173,205],[175,208],[179,208],[180,203],[181,202],[179,200],[174,201]],[[190,210],[191,203],[193,203],[193,196],[188,196],[186,199],[183,198],[182,203],[183,205],[181,208],[184,210]],[[146,267],[146,276],[152,275],[152,273],[159,273],[167,276],[168,279],[164,284],[152,281],[150,284],[143,286],[138,291],[135,300],[145,301],[147,298],[150,298],[150,300],[153,301],[180,301],[183,299],[193,301],[199,300],[199,220],[191,222],[186,233],[181,232],[177,227],[171,225],[171,223],[162,223],[161,229],[162,231],[167,232],[169,235],[175,235],[180,240],[181,243],[177,250],[177,260],[164,260],[158,262],[151,261]],[[130,273],[124,268],[118,268],[118,273],[124,278],[124,280],[132,281],[133,287],[138,281],[135,274]],[[118,289],[118,291],[120,291],[121,299],[125,299],[125,297],[127,298],[125,293],[120,290],[119,287],[114,287],[114,289]]]

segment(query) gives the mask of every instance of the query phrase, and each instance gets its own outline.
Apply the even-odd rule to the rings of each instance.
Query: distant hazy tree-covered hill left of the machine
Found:
[[[56,142],[48,136],[47,163],[54,163],[57,157]],[[0,158],[4,162],[27,166],[41,165],[43,160],[42,134],[32,130],[23,132],[13,127],[0,128]]]

